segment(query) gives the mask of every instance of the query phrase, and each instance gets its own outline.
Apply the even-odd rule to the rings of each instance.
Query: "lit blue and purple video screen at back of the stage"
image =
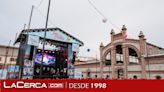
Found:
[[[41,64],[42,61],[42,53],[35,54],[35,64]],[[55,55],[45,53],[43,57],[43,65],[54,65],[56,62]]]

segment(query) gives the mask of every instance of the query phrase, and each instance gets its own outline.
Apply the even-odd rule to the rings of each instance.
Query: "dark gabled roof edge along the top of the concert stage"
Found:
[[[73,40],[76,40],[77,42],[79,42],[80,43],[80,45],[81,46],[83,46],[84,45],[84,43],[82,42],[82,41],[80,41],[79,39],[77,39],[77,38],[75,38],[74,36],[72,36],[71,34],[69,34],[69,33],[67,33],[67,32],[65,32],[64,30],[62,30],[62,29],[60,29],[60,28],[47,28],[47,32],[49,31],[53,31],[53,32],[55,32],[55,31],[60,31],[61,33],[63,33],[64,35],[67,35],[67,36],[69,36],[69,37],[71,37]],[[20,42],[20,37],[21,37],[21,35],[26,35],[27,33],[29,34],[29,33],[39,33],[39,32],[44,32],[45,31],[45,28],[40,28],[40,29],[25,29],[25,30],[22,30],[22,32],[19,34],[19,37],[17,38],[17,40],[16,40],[16,42],[15,43],[17,43],[17,42]]]

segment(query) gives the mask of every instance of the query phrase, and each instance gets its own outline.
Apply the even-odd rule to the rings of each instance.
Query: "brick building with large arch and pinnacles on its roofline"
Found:
[[[146,41],[141,31],[138,39],[127,38],[127,28],[111,30],[111,42],[100,45],[100,78],[164,79],[164,49]]]

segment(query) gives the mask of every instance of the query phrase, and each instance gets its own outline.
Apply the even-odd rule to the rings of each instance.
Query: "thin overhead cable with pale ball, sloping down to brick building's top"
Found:
[[[98,10],[98,8],[90,1],[88,0],[89,4],[104,18],[103,22],[105,23],[106,21],[108,21],[111,25],[113,25],[113,27],[117,28],[120,30],[120,28],[118,26],[116,26],[114,23],[112,23],[111,20],[109,20],[100,10]]]

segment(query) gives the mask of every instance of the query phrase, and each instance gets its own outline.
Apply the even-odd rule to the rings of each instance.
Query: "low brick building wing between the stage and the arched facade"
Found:
[[[75,62],[75,72],[81,72],[83,79],[100,78],[100,61],[91,57],[79,58]]]

